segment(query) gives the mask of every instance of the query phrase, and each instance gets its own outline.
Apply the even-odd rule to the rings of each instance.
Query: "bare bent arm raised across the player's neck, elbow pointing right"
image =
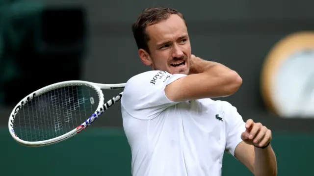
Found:
[[[171,101],[225,97],[234,94],[242,84],[241,77],[228,67],[192,58],[190,75],[184,76],[165,88]]]

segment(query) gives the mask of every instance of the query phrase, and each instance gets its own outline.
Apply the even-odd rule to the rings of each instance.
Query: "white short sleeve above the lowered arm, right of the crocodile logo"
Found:
[[[235,106],[226,101],[224,101],[224,112],[226,120],[226,149],[235,156],[235,148],[242,141],[242,132],[246,130],[245,122]]]

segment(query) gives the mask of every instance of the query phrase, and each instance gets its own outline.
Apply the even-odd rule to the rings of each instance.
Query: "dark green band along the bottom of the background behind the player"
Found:
[[[0,176],[131,176],[131,153],[122,128],[89,128],[73,138],[41,148],[14,142],[6,128],[0,128]],[[314,136],[274,133],[278,176],[314,176]],[[166,159],[166,158],[165,158]],[[252,176],[231,155],[226,154],[223,176]]]

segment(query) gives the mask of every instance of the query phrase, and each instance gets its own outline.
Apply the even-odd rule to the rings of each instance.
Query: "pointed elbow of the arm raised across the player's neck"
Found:
[[[227,77],[228,78],[226,79],[226,87],[228,87],[227,94],[229,96],[235,94],[235,92],[240,88],[240,86],[242,85],[242,78],[235,71],[229,73]]]

